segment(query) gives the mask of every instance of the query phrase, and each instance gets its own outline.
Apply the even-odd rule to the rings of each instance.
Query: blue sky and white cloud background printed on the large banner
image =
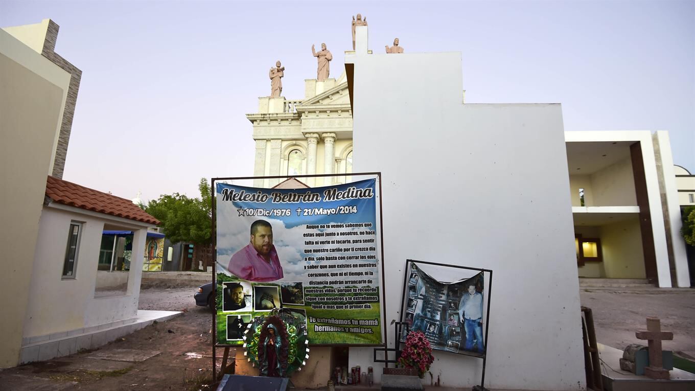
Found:
[[[359,232],[359,231],[375,231],[376,225],[376,206],[375,206],[375,194],[374,194],[375,179],[367,179],[360,182],[352,182],[350,184],[343,184],[338,186],[325,186],[311,189],[256,189],[245,186],[234,186],[229,184],[217,184],[217,264],[218,272],[230,274],[227,270],[229,266],[229,260],[231,256],[236,253],[240,248],[247,246],[250,242],[250,226],[256,220],[265,220],[272,226],[273,234],[273,245],[277,251],[278,258],[283,267],[284,278],[281,281],[307,281],[307,270],[304,266],[309,264],[321,264],[321,263],[353,263],[355,261],[305,261],[306,257],[315,257],[316,254],[304,253],[306,248],[321,248],[324,246],[306,246],[304,243],[307,240],[329,240],[329,239],[374,239],[375,241],[368,244],[361,244],[360,246],[373,246],[376,247],[376,236],[375,234],[350,234],[341,235],[340,237],[323,237],[316,239],[315,237],[305,237],[304,234],[307,232]],[[370,198],[352,198],[343,200],[329,200],[325,201],[325,191],[337,191],[345,192],[348,189],[354,188],[359,189],[371,189],[373,196]],[[226,191],[224,189],[227,189]],[[243,194],[247,197],[256,196],[256,200],[259,199],[258,195],[271,195],[265,200],[265,202],[251,202],[251,201],[232,201],[224,200],[223,191],[229,194],[229,191],[233,190],[236,195]],[[311,193],[312,195],[320,195],[320,200],[318,202],[273,202],[276,193],[275,200],[279,199],[279,195],[295,194],[304,196],[306,193]],[[289,197],[289,196],[287,196]],[[304,196],[308,198],[308,196]],[[316,199],[316,197],[313,197]],[[316,212],[315,209],[337,209],[338,207],[357,207],[357,213],[345,213],[345,214],[319,214],[312,216],[304,216],[305,210],[311,212]],[[285,216],[240,216],[240,209],[264,209],[266,211],[272,209],[285,209],[289,211],[289,215]],[[354,209],[345,208],[350,211]],[[370,224],[370,227],[360,227],[360,228],[307,228],[308,225],[326,225],[330,227],[336,224],[347,224],[347,223],[365,223]],[[321,255],[330,255],[332,257],[341,257],[353,255],[350,251],[350,247],[354,245],[350,244],[328,244],[325,245],[326,248],[345,248],[346,251],[342,252],[332,252],[323,253]],[[376,253],[373,251],[371,253]],[[363,253],[366,254],[366,253]],[[370,262],[377,264],[377,260],[364,260],[361,263]],[[325,269],[324,269],[325,270]],[[378,268],[363,268],[360,271],[372,271],[375,276],[378,276]],[[375,284],[378,282],[375,281]]]

